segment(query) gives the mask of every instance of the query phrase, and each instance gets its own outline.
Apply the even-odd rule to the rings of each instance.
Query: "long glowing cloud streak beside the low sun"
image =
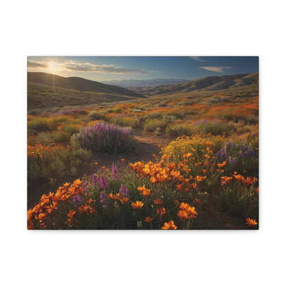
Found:
[[[47,62],[28,61],[28,67],[49,69],[50,64]],[[53,67],[57,71],[72,72],[95,72],[102,74],[148,74],[142,69],[125,69],[123,67],[115,67],[115,65],[96,65],[94,63],[82,63],[79,61],[65,61],[64,63],[53,63]]]

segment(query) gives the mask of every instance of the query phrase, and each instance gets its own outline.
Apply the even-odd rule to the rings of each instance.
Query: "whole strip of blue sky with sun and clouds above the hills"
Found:
[[[96,81],[151,78],[195,80],[259,72],[256,56],[28,56],[28,72]]]

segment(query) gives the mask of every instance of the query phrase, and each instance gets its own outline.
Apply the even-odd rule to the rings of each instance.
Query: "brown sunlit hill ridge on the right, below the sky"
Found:
[[[155,96],[161,94],[188,93],[190,91],[216,91],[254,85],[259,83],[259,74],[234,74],[231,76],[208,76],[197,80],[189,80],[186,83],[175,85],[160,85],[157,87],[134,87],[131,88],[140,94]]]

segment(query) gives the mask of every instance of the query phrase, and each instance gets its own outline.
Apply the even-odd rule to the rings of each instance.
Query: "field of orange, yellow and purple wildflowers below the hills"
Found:
[[[50,186],[28,229],[258,228],[258,100],[248,88],[28,115],[28,192]],[[150,159],[139,131],[168,144]]]

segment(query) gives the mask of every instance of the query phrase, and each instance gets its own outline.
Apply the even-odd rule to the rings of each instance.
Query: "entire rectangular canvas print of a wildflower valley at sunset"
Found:
[[[259,58],[29,56],[28,230],[259,228]]]

